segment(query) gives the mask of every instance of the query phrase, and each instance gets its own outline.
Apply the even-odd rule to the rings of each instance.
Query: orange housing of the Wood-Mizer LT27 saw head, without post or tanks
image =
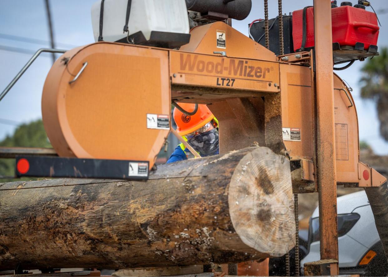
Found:
[[[220,153],[255,142],[287,152],[301,161],[293,182],[314,191],[324,153],[317,153],[312,57],[301,56],[281,60],[222,22],[194,28],[180,50],[94,43],[55,62],[43,88],[43,122],[60,156],[148,160],[152,168],[169,132],[171,99],[208,104],[220,122]],[[338,184],[381,185],[385,178],[359,162],[350,91],[335,75],[327,93],[334,93]]]

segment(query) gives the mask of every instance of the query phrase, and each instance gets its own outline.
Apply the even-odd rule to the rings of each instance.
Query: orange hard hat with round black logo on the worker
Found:
[[[195,104],[190,103],[177,103],[182,109],[187,112],[194,111]],[[182,113],[176,107],[174,108],[174,120],[177,124],[177,132],[179,135],[184,136],[206,125],[211,119],[214,118],[208,106],[204,104],[198,104],[198,111],[189,116]]]

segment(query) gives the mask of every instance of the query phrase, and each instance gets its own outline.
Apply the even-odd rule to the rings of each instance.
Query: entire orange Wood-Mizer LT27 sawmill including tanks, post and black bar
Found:
[[[159,3],[162,14],[154,14],[158,23],[145,24],[147,31],[135,21],[145,18],[142,5],[152,1],[117,1],[123,6],[116,16],[113,2],[98,1],[92,9],[95,43],[38,51],[1,94],[0,100],[41,52],[63,52],[42,95],[43,123],[55,153],[16,153],[16,175],[147,179],[171,129],[171,103],[206,104],[219,121],[221,154],[252,144],[269,147],[290,159],[296,197],[319,192],[319,267],[322,274],[338,274],[336,185],[379,187],[386,179],[360,161],[352,90],[333,73],[334,63],[378,55],[378,27],[357,23],[359,32],[376,41],[343,45],[348,41],[333,41],[327,14],[341,8],[344,14],[365,12],[371,20],[375,15],[314,0],[313,7],[294,12],[300,17],[294,52],[284,40],[281,1],[279,35],[266,8],[265,19],[249,25],[251,38],[231,26],[232,18],[248,16],[250,0],[186,0],[184,7],[176,1],[183,19],[174,26],[169,24],[180,19],[171,19]],[[263,28],[252,35],[255,24]],[[279,47],[271,48],[272,41]]]

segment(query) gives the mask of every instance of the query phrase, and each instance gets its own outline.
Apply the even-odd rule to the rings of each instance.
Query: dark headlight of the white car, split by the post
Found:
[[[338,215],[338,237],[341,237],[349,232],[359,219],[360,215],[358,213],[346,213]],[[310,226],[308,229],[309,244],[314,241],[319,241],[319,217],[310,219]]]

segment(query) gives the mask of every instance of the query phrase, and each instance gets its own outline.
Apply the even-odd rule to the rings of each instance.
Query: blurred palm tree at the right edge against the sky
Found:
[[[379,56],[369,59],[361,71],[364,73],[360,80],[361,97],[376,102],[380,134],[388,141],[388,48],[382,48]]]

